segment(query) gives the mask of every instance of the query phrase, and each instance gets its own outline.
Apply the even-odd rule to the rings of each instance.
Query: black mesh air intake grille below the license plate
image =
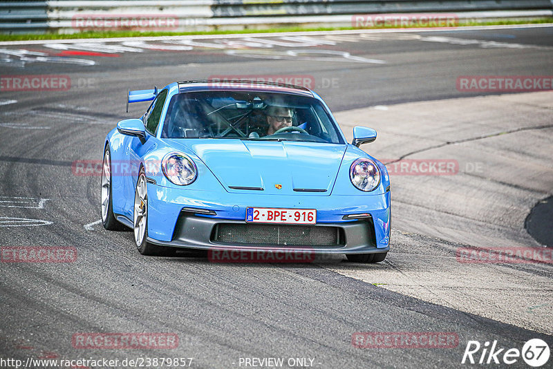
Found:
[[[339,227],[313,225],[254,225],[219,223],[212,241],[279,246],[339,246],[344,245],[344,230]]]

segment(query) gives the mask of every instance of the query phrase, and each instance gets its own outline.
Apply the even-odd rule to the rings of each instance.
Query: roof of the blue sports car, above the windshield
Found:
[[[293,84],[281,84],[277,82],[243,81],[235,79],[203,79],[194,81],[181,81],[178,83],[178,92],[192,91],[252,91],[289,93],[314,97],[310,89]]]

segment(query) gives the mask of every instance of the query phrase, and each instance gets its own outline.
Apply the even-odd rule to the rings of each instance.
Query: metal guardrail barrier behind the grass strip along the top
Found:
[[[382,13],[455,13],[460,21],[551,17],[553,0],[10,1],[0,3],[0,32],[75,33],[113,29],[114,25],[120,26],[118,29],[178,31],[352,26],[353,15]],[[150,26],[144,26],[148,20]]]

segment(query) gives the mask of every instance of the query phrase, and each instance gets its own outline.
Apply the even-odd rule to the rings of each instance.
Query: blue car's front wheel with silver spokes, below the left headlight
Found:
[[[146,174],[144,173],[144,168],[140,168],[134,192],[133,230],[136,248],[140,254],[152,256],[167,254],[167,247],[152,245],[147,242],[148,191],[146,188]]]

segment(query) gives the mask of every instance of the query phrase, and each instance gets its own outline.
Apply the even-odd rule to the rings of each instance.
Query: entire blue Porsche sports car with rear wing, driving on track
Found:
[[[102,223],[134,230],[138,251],[168,247],[346,254],[383,261],[390,181],[348,144],[324,101],[269,82],[174,82],[129,91],[151,101],[106,136]]]

